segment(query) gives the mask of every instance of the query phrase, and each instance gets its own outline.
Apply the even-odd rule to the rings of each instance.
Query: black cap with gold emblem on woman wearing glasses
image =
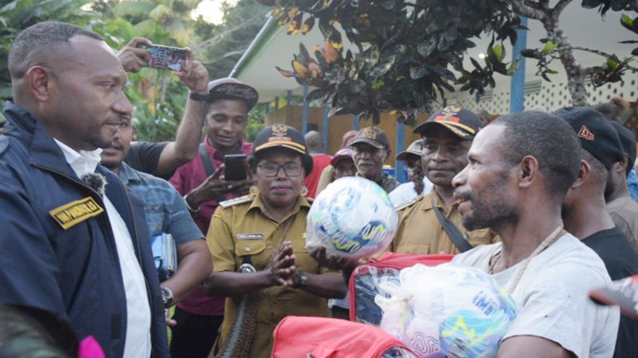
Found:
[[[304,136],[289,125],[275,124],[265,127],[257,133],[253,144],[253,155],[269,148],[286,148],[297,152],[304,164],[306,176],[313,170],[313,157],[308,153]]]

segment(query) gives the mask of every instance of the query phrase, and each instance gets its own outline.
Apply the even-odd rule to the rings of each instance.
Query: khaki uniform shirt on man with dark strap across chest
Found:
[[[441,208],[443,214],[459,228],[461,234],[467,234],[471,246],[500,241],[491,229],[466,231],[457,204],[454,204],[447,212],[443,199],[433,189],[429,194],[417,196],[409,203],[397,208],[399,225],[390,246],[392,252],[417,255],[459,254],[459,250],[434,213],[432,196],[434,196],[434,204]]]

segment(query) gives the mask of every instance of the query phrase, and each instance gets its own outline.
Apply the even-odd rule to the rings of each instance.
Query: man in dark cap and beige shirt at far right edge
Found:
[[[636,159],[636,136],[620,122],[609,123],[618,132],[625,156],[623,161],[615,162],[609,169],[605,187],[607,211],[616,227],[625,233],[635,254],[638,255],[638,203],[630,195],[627,185],[627,178]]]

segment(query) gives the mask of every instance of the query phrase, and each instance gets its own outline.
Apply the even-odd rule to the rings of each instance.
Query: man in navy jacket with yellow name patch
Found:
[[[167,357],[143,211],[98,165],[131,115],[124,69],[100,36],[61,22],[23,31],[8,68],[0,303],[61,315],[107,357]]]

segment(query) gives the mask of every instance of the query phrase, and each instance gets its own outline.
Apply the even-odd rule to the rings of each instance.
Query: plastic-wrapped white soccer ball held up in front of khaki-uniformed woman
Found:
[[[361,258],[392,241],[397,213],[385,190],[371,180],[346,176],[330,183],[308,212],[306,247],[327,255]]]

